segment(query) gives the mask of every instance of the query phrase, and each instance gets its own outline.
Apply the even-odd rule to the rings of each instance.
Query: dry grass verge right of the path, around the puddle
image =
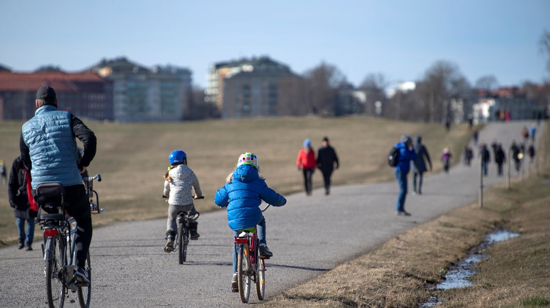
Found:
[[[538,153],[550,149],[546,126]],[[437,307],[550,306],[550,160],[541,172],[488,190],[477,202],[395,236],[371,253],[345,262],[285,291],[267,307],[419,307],[431,296]],[[480,243],[505,228],[519,237],[489,247],[472,286],[434,290],[446,271]]]

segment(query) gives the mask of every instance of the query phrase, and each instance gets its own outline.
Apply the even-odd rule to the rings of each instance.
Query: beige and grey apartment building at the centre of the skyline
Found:
[[[304,80],[268,57],[216,63],[205,101],[222,117],[305,115]]]

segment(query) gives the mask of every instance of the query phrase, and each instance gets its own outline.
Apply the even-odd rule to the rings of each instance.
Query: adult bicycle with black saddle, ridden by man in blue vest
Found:
[[[85,177],[87,195],[95,194],[96,204],[99,204],[97,192],[92,189],[92,182],[97,179],[101,181],[101,175],[92,178]],[[44,233],[44,243],[42,246],[42,255],[44,256],[45,266],[44,275],[46,277],[46,297],[50,308],[62,308],[65,301],[67,290],[78,294],[80,307],[89,308],[91,299],[91,264],[90,254],[86,256],[85,268],[89,284],[79,283],[74,279],[76,264],[76,221],[65,213],[65,189],[59,183],[44,183],[36,188],[36,199],[40,209],[45,209],[48,213],[41,214],[40,225]],[[90,197],[90,211],[93,214],[100,214],[103,209],[98,209]]]

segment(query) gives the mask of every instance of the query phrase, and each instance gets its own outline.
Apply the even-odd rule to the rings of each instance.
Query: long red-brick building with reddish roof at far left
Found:
[[[56,90],[59,109],[79,117],[113,119],[111,83],[91,71],[67,73],[0,71],[0,119],[28,120],[34,116],[36,91],[49,85]]]

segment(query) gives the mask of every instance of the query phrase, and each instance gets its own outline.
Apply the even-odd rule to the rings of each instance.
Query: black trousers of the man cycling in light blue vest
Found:
[[[86,261],[86,256],[90,250],[92,242],[92,214],[90,212],[90,204],[86,196],[84,185],[65,186],[65,211],[67,214],[74,217],[77,223],[75,249],[76,262],[79,267],[83,267]],[[32,195],[36,198],[36,192],[32,191]]]

